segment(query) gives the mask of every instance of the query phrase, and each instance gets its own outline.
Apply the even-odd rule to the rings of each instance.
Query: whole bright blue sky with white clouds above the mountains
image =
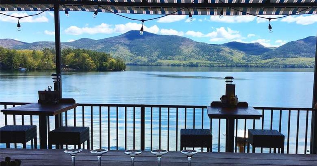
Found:
[[[25,16],[36,12],[3,12],[13,16]],[[139,30],[140,21],[132,21],[112,13],[69,11],[69,17],[60,13],[61,41],[80,38],[103,39]],[[124,14],[136,19],[149,19],[160,15]],[[264,15],[265,17],[277,17]],[[288,16],[271,21],[273,33],[268,32],[268,21],[255,16],[188,16],[171,15],[144,23],[144,30],[161,35],[180,35],[194,41],[222,44],[229,41],[259,42],[266,47],[278,47],[288,41],[316,36],[317,15]],[[0,38],[24,42],[54,41],[54,16],[46,11],[38,16],[20,20],[21,31],[16,30],[17,19],[0,15]]]

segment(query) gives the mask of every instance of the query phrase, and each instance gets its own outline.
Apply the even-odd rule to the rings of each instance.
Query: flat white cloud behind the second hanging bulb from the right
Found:
[[[240,22],[251,22],[255,19],[255,16],[223,16],[219,18],[219,16],[210,16],[210,20],[212,22],[227,22],[227,23],[240,23]]]

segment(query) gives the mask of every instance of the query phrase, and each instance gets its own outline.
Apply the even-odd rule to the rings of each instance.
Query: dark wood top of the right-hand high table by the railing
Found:
[[[253,107],[207,106],[209,118],[221,119],[260,119],[262,114]]]

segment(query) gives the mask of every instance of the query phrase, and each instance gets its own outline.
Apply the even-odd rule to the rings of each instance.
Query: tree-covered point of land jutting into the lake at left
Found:
[[[113,58],[109,54],[85,49],[67,48],[61,51],[61,61],[67,69],[76,70],[113,70],[126,68],[120,58]],[[55,50],[16,50],[0,47],[1,70],[17,70],[19,67],[29,70],[55,70]]]

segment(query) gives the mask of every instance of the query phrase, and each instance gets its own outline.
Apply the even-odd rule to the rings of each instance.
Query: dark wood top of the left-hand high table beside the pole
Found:
[[[8,115],[57,115],[75,108],[78,103],[40,104],[31,103],[1,110]]]

